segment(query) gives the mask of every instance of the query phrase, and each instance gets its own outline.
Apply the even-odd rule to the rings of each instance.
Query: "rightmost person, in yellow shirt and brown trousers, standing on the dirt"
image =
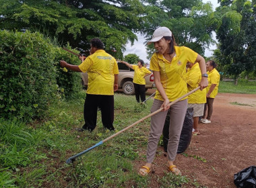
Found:
[[[201,122],[203,124],[211,123],[211,117],[214,111],[214,98],[218,94],[218,87],[220,84],[220,73],[216,70],[216,67],[217,64],[214,60],[209,60],[206,62],[206,70],[208,74],[209,85],[206,88],[206,103],[204,107],[203,118],[201,119]]]

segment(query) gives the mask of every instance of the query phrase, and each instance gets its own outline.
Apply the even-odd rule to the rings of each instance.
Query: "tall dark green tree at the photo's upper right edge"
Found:
[[[243,71],[256,71],[256,1],[223,0],[216,13],[222,20],[216,58],[226,73],[236,79]]]

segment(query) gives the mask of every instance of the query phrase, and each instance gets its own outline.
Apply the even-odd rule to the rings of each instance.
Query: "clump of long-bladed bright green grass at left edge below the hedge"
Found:
[[[1,168],[18,169],[26,167],[30,162],[31,153],[36,151],[34,147],[40,137],[32,130],[27,130],[25,124],[17,120],[0,120],[0,163]],[[35,158],[41,158],[42,155]]]

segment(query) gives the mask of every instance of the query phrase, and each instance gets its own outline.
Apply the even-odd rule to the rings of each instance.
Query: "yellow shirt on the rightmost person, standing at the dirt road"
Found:
[[[208,86],[206,87],[206,93],[210,90],[212,84],[216,84],[214,87],[214,91],[210,94],[210,98],[215,98],[218,93],[219,83],[220,83],[220,73],[216,70],[216,68],[212,69],[211,72],[207,72],[208,74]]]

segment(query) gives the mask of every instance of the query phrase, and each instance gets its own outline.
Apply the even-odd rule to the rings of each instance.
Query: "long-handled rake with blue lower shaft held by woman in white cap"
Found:
[[[192,91],[190,91],[189,93],[183,95],[182,97],[179,97],[178,99],[176,99],[175,101],[172,101],[171,103],[168,104],[168,106],[173,105],[174,103],[177,103],[178,101],[180,101],[181,99],[187,97],[188,95],[190,95],[191,93],[194,93],[195,91],[197,91],[198,89],[200,89],[200,87],[197,87],[196,89],[193,89]],[[81,156],[82,154],[85,154],[86,152],[89,152],[90,150],[96,148],[97,146],[100,146],[101,144],[103,144],[104,142],[114,138],[115,136],[121,134],[122,132],[125,132],[126,130],[128,130],[129,128],[132,128],[133,126],[139,124],[140,122],[143,122],[144,120],[146,120],[147,118],[150,118],[152,115],[155,115],[156,113],[162,111],[163,107],[161,107],[160,109],[154,111],[153,113],[150,113],[149,115],[145,116],[144,118],[141,118],[140,120],[138,120],[137,122],[131,124],[130,126],[128,126],[127,128],[124,128],[123,130],[117,132],[116,134],[113,134],[112,136],[109,136],[108,138],[106,138],[105,140],[102,140],[100,142],[98,142],[97,144],[95,144],[94,146],[88,148],[87,150],[84,150],[83,152],[80,152],[79,154],[76,154],[74,156],[71,156],[70,158],[68,158],[66,160],[66,163],[69,164],[71,162],[73,162],[75,160],[75,158],[77,158],[78,156]]]

